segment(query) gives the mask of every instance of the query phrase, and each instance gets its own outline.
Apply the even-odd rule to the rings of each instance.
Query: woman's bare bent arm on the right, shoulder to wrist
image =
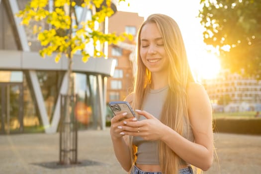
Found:
[[[165,126],[161,138],[187,163],[207,171],[213,163],[212,109],[208,95],[199,84],[192,83],[187,88],[189,121],[195,143],[180,136]]]

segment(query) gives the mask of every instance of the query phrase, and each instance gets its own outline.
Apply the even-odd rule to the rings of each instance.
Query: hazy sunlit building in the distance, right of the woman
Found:
[[[261,110],[261,81],[222,71],[217,78],[203,80],[213,106],[221,111]],[[217,109],[218,110],[218,109]]]

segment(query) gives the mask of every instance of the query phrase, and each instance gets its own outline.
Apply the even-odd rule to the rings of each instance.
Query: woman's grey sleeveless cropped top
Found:
[[[168,94],[168,89],[168,86],[161,89],[150,89],[150,91],[146,94],[143,110],[160,119],[162,108]],[[143,119],[146,118],[140,115],[139,120]],[[188,133],[187,130],[189,131]],[[183,132],[185,132],[184,135],[186,136],[184,137],[186,139],[192,142],[194,141],[194,136],[190,126],[188,129],[184,126]],[[133,144],[138,147],[137,153],[135,154],[137,156],[136,163],[145,165],[159,165],[158,142],[159,141],[146,141],[139,136],[133,137]],[[181,162],[182,164],[186,164],[183,160],[181,160]]]

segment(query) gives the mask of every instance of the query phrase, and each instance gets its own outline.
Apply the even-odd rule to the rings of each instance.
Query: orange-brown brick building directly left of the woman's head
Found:
[[[109,101],[123,100],[133,86],[133,58],[136,48],[136,35],[144,17],[138,13],[117,11],[109,18],[108,31],[117,34],[126,32],[134,36],[117,45],[109,45],[108,58],[116,60],[113,77],[108,78],[107,103]]]

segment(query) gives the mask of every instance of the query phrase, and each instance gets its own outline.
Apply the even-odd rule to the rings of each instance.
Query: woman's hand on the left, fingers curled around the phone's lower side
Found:
[[[124,133],[122,133],[122,127],[123,127],[123,125],[125,125],[124,124],[125,122],[137,121],[137,119],[135,117],[126,118],[126,115],[127,115],[127,112],[124,112],[122,114],[115,115],[111,118],[111,120],[110,120],[111,138],[117,139],[117,138],[121,138],[123,135],[125,135]]]

